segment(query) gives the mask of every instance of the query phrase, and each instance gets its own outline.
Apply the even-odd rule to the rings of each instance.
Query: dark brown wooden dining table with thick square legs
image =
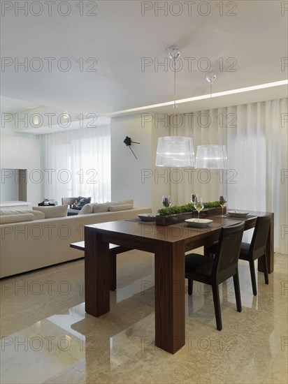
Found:
[[[257,216],[210,219],[207,228],[137,219],[85,226],[85,311],[96,317],[110,311],[110,243],[154,253],[155,344],[177,352],[185,345],[185,252],[217,241],[222,226],[243,220],[245,230],[253,228]]]

